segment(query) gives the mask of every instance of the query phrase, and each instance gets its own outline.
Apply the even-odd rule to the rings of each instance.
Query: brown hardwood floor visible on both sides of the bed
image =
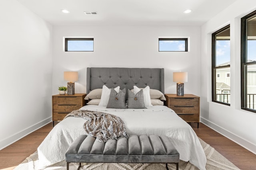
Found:
[[[57,122],[56,122],[57,123]],[[206,125],[191,123],[194,131],[202,140],[214,147],[218,152],[242,170],[256,170],[256,155],[240,145],[230,141]],[[12,170],[26,157],[36,151],[46,135],[51,131],[52,123],[34,131],[12,145],[0,150],[0,169]]]

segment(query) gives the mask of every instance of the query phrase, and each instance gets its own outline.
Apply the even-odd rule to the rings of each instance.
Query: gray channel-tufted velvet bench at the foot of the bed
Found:
[[[66,152],[67,170],[70,162],[166,163],[179,168],[180,154],[167,136],[130,135],[101,143],[95,137],[80,135]]]

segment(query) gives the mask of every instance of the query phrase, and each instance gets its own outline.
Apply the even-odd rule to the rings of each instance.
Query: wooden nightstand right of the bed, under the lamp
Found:
[[[173,109],[186,122],[196,122],[197,128],[200,119],[200,97],[193,94],[165,94],[166,106]]]

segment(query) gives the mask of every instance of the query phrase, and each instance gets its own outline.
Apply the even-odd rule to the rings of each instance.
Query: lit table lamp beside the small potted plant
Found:
[[[75,94],[75,81],[78,80],[77,71],[64,71],[64,80],[68,81],[67,94]]]

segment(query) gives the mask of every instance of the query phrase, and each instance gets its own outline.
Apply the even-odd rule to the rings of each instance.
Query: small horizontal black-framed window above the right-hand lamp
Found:
[[[188,51],[188,38],[159,38],[158,51]]]

